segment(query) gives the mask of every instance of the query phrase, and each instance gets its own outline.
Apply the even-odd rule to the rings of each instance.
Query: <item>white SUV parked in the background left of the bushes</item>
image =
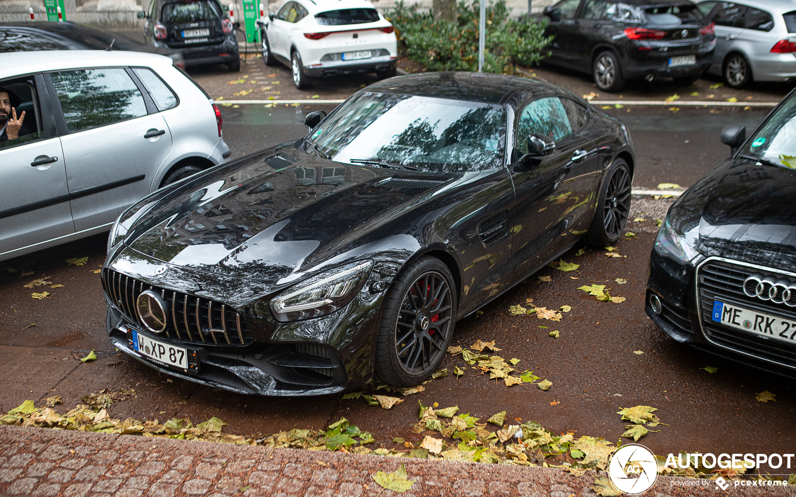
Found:
[[[376,72],[396,74],[398,44],[387,19],[366,0],[287,0],[260,22],[263,60],[293,70],[299,90],[311,78]]]

